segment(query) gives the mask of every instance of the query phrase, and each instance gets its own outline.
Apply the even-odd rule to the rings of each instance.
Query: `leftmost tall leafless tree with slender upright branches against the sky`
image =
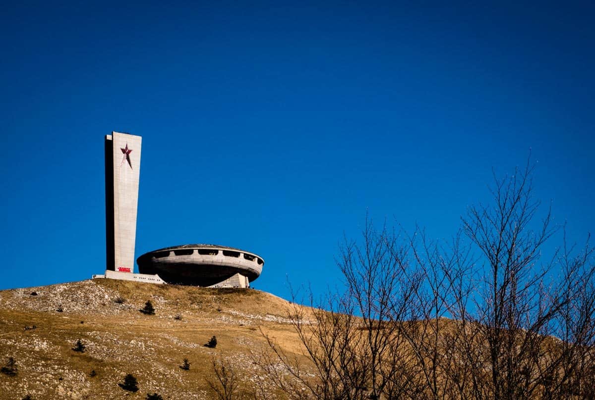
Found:
[[[402,333],[411,327],[405,322],[418,317],[417,293],[423,276],[409,263],[405,239],[386,224],[374,229],[367,217],[361,241],[345,239],[340,250],[337,265],[354,311],[361,316],[368,398],[418,392],[412,379],[417,368],[410,362],[411,349]]]

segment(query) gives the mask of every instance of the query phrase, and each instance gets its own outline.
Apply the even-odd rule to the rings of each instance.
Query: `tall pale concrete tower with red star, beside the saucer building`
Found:
[[[105,240],[107,270],[134,272],[136,210],[142,137],[105,136]]]

